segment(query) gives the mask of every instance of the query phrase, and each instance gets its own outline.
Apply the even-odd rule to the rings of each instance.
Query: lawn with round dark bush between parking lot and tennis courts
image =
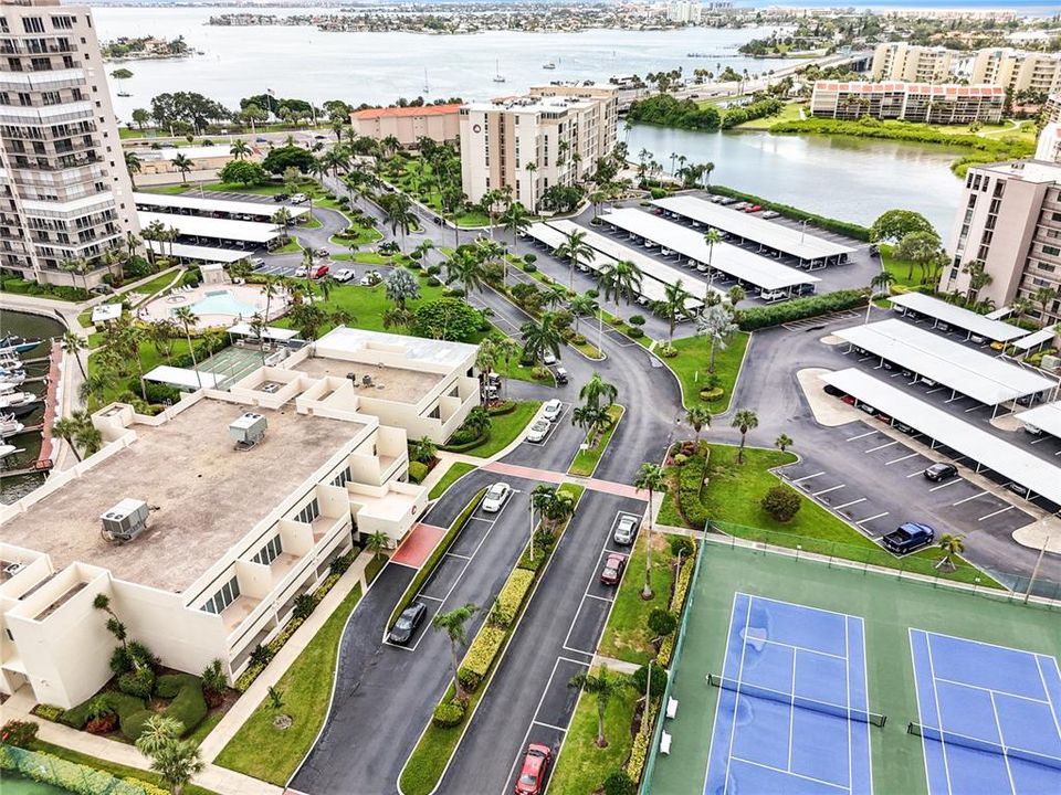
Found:
[[[737,447],[711,445],[706,473],[708,484],[701,498],[712,520],[723,522],[725,531],[738,538],[790,549],[799,544],[808,552],[832,554],[890,569],[902,568],[929,576],[938,574],[959,582],[971,583],[979,577],[984,585],[998,585],[990,576],[964,561],[953,574],[938,572],[934,564],[939,559],[939,552],[933,548],[896,558],[805,496],[799,512],[791,520],[777,521],[763,510],[759,501],[778,483],[777,476],[769,470],[795,460],[796,456],[791,453],[749,448],[744,453],[744,464],[737,465]],[[661,511],[660,521],[670,523],[669,520],[676,517],[670,495],[663,504],[665,511]],[[681,523],[680,518],[677,523]]]

